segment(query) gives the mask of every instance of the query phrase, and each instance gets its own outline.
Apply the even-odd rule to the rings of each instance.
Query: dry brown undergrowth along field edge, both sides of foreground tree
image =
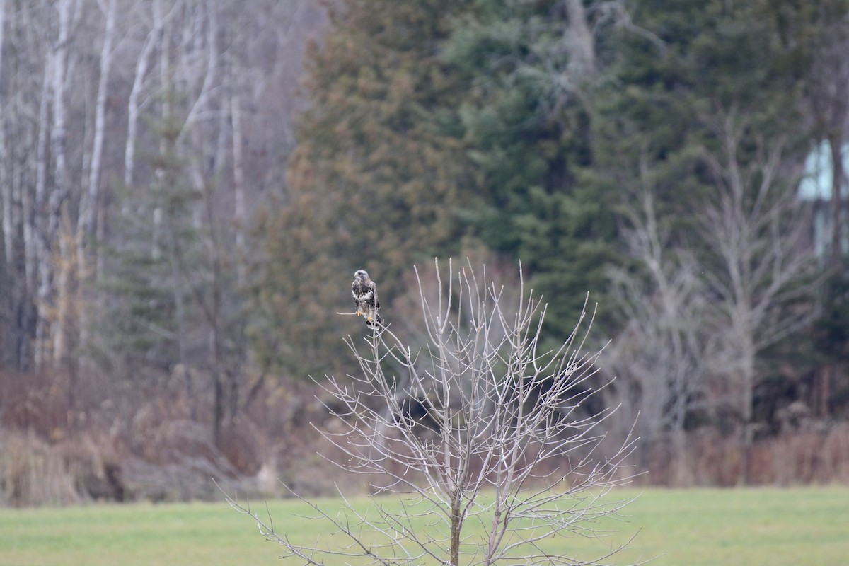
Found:
[[[212,442],[212,395],[189,403],[176,376],[3,373],[0,391],[0,506],[216,499],[213,478],[253,496],[284,495],[280,481],[306,496],[362,481],[325,458],[340,451],[312,424],[335,425],[316,397],[321,389],[304,382],[262,385],[221,446]],[[646,474],[636,481],[736,483],[743,451],[733,434],[696,429],[685,444],[677,462],[669,440],[638,443],[632,463]],[[751,485],[849,483],[849,425],[798,415],[756,440],[747,476]]]

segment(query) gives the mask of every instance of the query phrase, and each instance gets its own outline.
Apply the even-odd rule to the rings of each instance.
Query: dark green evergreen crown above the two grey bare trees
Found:
[[[596,98],[597,171],[637,201],[648,182],[666,220],[686,223],[711,193],[703,157],[720,147],[719,120],[734,114],[749,124],[739,140],[746,164],[756,160],[756,138],[791,136],[798,157],[803,62],[781,41],[781,15],[768,2],[635,3],[633,20],[655,41],[616,36],[616,63]]]

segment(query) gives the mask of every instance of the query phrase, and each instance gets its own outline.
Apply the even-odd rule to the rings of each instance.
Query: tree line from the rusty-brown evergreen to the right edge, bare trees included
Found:
[[[710,425],[747,462],[794,401],[846,416],[847,8],[344,3],[310,53],[290,205],[267,223],[261,301],[280,318],[262,350],[301,344],[278,359],[332,367],[334,309],[285,298],[344,304],[363,266],[393,321],[410,264],[483,248],[522,262],[558,339],[598,303],[608,401],[649,445],[681,456]],[[797,187],[822,141],[816,255]]]

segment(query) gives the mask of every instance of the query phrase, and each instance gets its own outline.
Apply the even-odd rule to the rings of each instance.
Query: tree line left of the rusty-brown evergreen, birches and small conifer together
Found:
[[[325,20],[307,0],[0,1],[5,369],[72,391],[173,372],[213,391],[217,442],[249,385],[250,231],[284,198]]]

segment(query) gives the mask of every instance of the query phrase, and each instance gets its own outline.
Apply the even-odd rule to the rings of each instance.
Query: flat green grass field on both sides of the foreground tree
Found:
[[[651,564],[658,566],[849,564],[849,488],[616,492],[633,496],[625,522],[600,525],[615,531],[610,540],[560,537],[549,549],[586,557],[636,534],[610,563],[656,557]],[[297,502],[269,508],[278,532],[310,541],[328,530],[297,517],[304,513]],[[0,509],[4,566],[279,564],[278,553],[250,518],[223,502]]]

